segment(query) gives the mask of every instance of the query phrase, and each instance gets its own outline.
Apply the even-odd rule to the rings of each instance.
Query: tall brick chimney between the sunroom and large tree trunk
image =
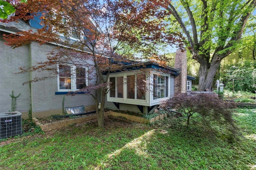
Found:
[[[187,51],[178,49],[175,54],[175,69],[180,70],[180,74],[174,80],[174,93],[187,92]]]

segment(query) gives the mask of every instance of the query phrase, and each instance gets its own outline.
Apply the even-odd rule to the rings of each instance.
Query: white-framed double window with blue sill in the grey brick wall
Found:
[[[58,91],[78,91],[88,85],[88,68],[58,64]]]

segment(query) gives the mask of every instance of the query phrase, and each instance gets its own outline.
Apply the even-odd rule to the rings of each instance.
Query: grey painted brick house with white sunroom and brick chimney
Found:
[[[38,22],[36,22],[38,23]],[[22,85],[26,81],[30,81],[35,77],[47,77],[47,72],[27,72],[18,73],[19,67],[31,67],[38,62],[46,61],[47,54],[51,51],[55,44],[39,45],[33,42],[29,45],[24,45],[15,49],[4,44],[3,34],[16,33],[18,31],[35,30],[33,21],[30,22],[0,22],[0,113],[8,112],[11,108],[10,93],[14,91],[14,95],[21,93],[17,98],[17,111],[22,113],[23,118],[28,118],[28,110],[32,107],[32,117],[47,117],[62,113],[62,100],[65,96],[64,107],[84,106],[85,110],[96,108],[96,103],[91,95],[80,93],[74,96],[66,95],[69,91],[78,91],[80,87],[76,85],[76,78],[67,79],[55,75],[51,79],[38,81]],[[128,71],[113,72],[110,74],[112,83],[122,81],[122,86],[116,85],[114,89],[110,89],[106,96],[106,108],[130,110],[141,113],[150,113],[157,107],[162,99],[171,97],[174,93],[185,93],[191,90],[192,79],[194,77],[186,74],[186,55],[181,51],[177,51],[177,56],[182,56],[183,60],[177,61],[176,65],[182,67],[162,67],[157,63],[141,62],[136,68],[134,64],[124,65]],[[146,70],[141,74],[142,69]],[[75,65],[56,65],[58,71],[76,69]],[[85,71],[91,69],[88,67],[82,68]],[[129,70],[130,69],[130,70]],[[164,71],[163,71],[164,69]],[[87,76],[84,75],[86,78]],[[182,79],[179,79],[182,77]],[[141,91],[136,79],[145,79],[154,82],[158,87],[150,85],[148,89]],[[130,84],[127,81],[130,81]],[[126,81],[126,82],[125,82]],[[90,80],[94,83],[94,80]],[[130,92],[133,91],[133,94]]]

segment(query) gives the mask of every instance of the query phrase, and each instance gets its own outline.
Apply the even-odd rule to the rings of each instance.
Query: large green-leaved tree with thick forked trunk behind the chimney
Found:
[[[255,6],[256,0],[177,0],[165,6],[173,23],[170,32],[182,32],[200,64],[199,91],[212,88],[220,62],[236,49]]]

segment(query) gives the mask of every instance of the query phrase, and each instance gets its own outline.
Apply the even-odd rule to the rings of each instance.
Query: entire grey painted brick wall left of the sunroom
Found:
[[[47,53],[52,49],[50,45],[38,45],[38,43],[25,45],[12,49],[4,45],[4,40],[0,38],[0,113],[8,112],[11,106],[9,94],[14,90],[14,95],[21,93],[17,99],[17,111],[28,111],[30,105],[29,85],[22,85],[29,80],[29,73],[13,74],[19,71],[18,67],[30,66],[30,54],[32,55],[31,65],[36,65],[40,61],[46,61]],[[49,73],[33,72],[32,77],[44,77]],[[57,76],[54,79],[46,79],[32,83],[32,111],[47,111],[62,108],[64,95],[55,95],[57,91]],[[75,96],[65,96],[65,107],[80,105],[94,105],[94,99],[89,94],[78,94]]]

